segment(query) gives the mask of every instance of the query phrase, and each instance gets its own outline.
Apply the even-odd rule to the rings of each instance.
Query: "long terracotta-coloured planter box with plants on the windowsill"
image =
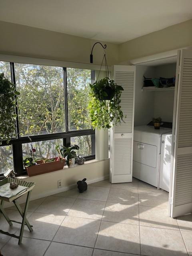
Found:
[[[62,170],[65,164],[65,159],[58,156],[55,158],[39,158],[35,159],[35,148],[31,144],[30,154],[31,157],[25,158],[24,166],[28,173],[28,176],[35,176],[48,172],[54,172]]]

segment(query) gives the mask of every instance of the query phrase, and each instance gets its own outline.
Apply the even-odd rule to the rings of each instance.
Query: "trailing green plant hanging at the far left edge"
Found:
[[[14,110],[16,107],[16,97],[20,93],[15,90],[15,85],[12,84],[4,73],[0,74],[0,144],[3,140],[10,142],[14,137],[16,130],[16,117]]]

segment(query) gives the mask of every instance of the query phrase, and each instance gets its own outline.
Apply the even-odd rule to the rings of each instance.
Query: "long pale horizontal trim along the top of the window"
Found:
[[[96,65],[96,64],[68,62],[68,61],[62,61],[62,60],[49,60],[49,59],[43,59],[43,58],[32,58],[32,57],[6,55],[6,54],[0,54],[0,61],[47,65],[47,66],[58,66],[58,67],[66,67],[66,68],[84,68],[84,69],[91,69],[91,70],[100,70],[100,65]],[[109,70],[111,70],[110,66],[108,68]],[[101,70],[105,70],[105,66],[102,66]]]

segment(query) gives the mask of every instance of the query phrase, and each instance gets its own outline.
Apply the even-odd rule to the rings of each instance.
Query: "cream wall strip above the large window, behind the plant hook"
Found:
[[[90,52],[96,40],[71,36],[50,30],[0,21],[0,54],[90,63]],[[118,63],[118,44],[102,42],[109,65]],[[96,45],[93,64],[100,64],[104,50]]]

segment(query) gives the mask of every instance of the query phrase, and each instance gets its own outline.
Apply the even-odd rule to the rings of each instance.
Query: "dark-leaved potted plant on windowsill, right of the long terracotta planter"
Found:
[[[76,158],[75,150],[79,150],[79,146],[72,145],[69,147],[65,147],[65,146],[57,145],[56,150],[59,154],[59,157],[65,158],[67,165],[70,166],[70,160],[72,158]]]

